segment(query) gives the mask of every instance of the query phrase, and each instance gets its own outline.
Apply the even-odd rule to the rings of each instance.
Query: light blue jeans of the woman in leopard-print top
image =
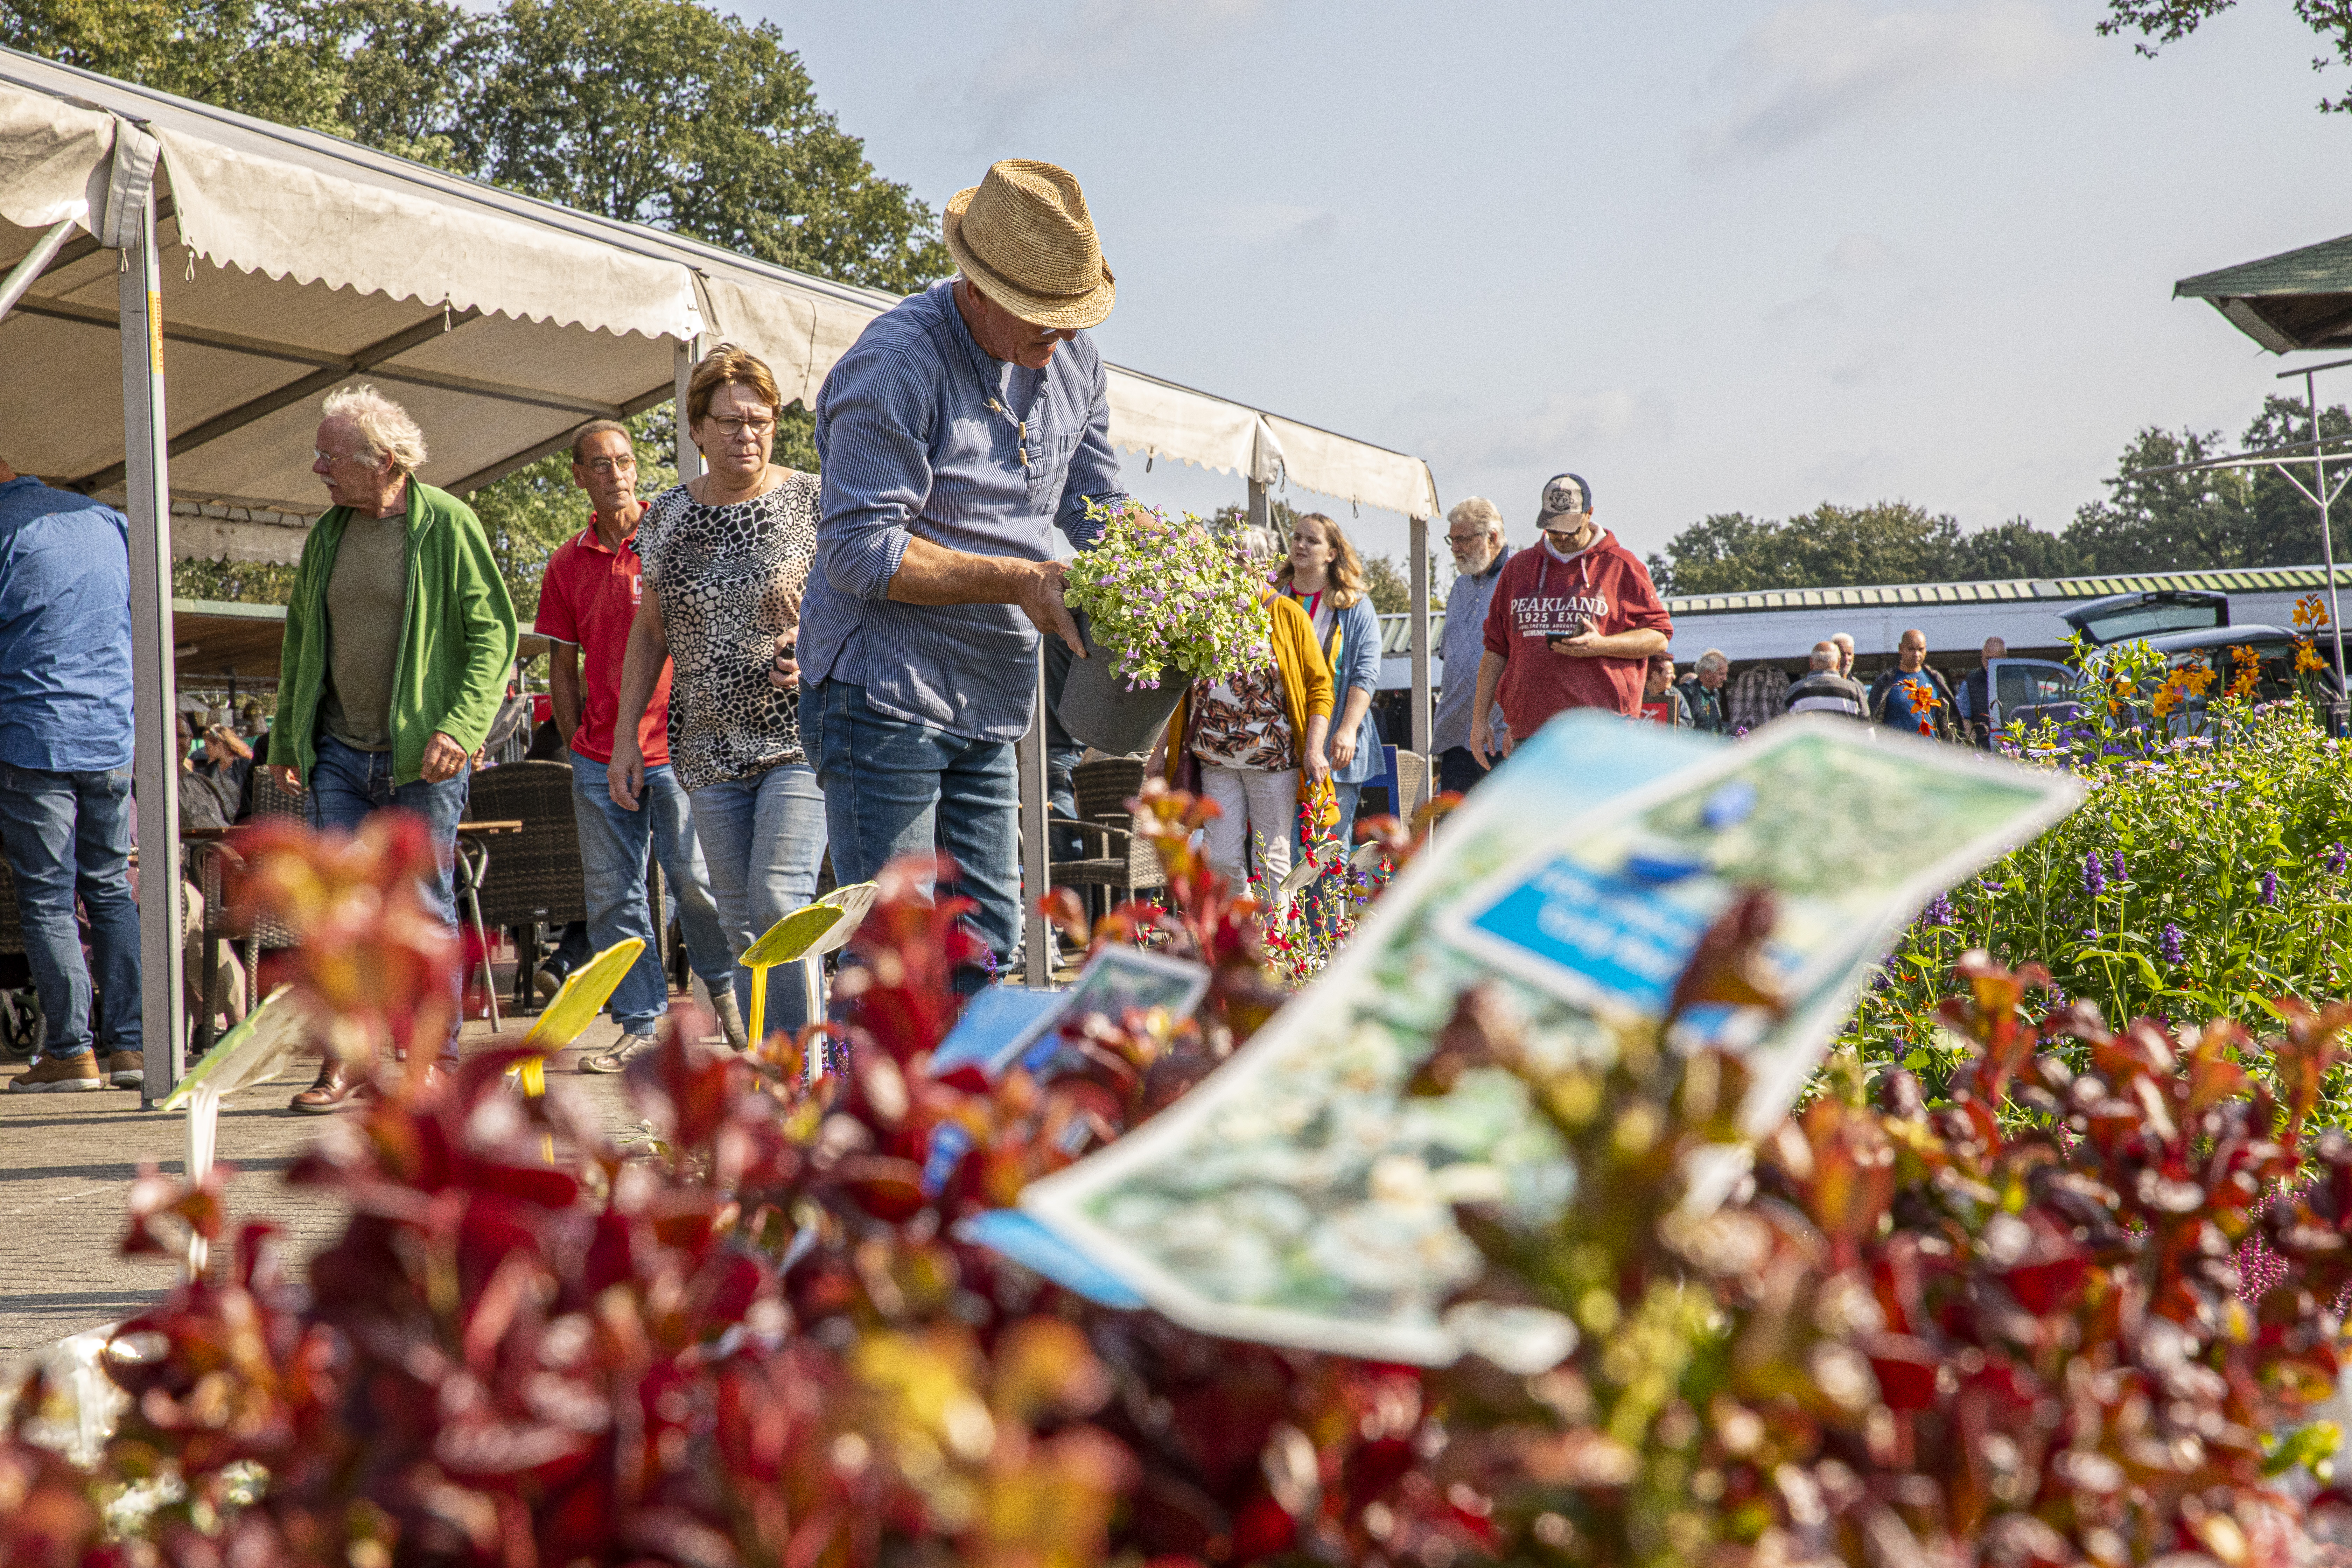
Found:
[[[720,905],[720,931],[727,957],[767,936],[767,929],[793,910],[816,900],[816,872],[826,863],[826,797],[816,792],[816,773],[795,764],[727,778],[687,795],[694,804],[694,837],[703,842],[703,865],[710,867],[710,896]],[[736,1004],[743,1027],[750,1027],[750,971],[734,971]],[[760,1027],[800,1030],[809,1023],[809,1001],[800,973],[786,969],[769,976],[767,1018]]]

